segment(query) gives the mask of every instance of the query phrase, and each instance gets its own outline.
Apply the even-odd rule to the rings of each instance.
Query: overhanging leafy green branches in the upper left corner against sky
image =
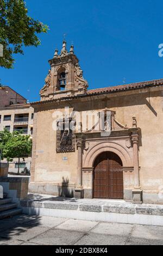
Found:
[[[28,15],[24,0],[0,0],[0,44],[3,57],[0,65],[12,68],[13,54],[23,54],[23,46],[39,46],[39,33],[47,33],[48,26]]]

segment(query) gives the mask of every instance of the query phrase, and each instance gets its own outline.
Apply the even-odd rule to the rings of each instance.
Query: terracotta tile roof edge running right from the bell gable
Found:
[[[139,82],[139,83],[121,84],[120,86],[91,89],[91,90],[87,90],[86,94],[90,95],[90,94],[109,93],[109,92],[116,92],[120,90],[142,88],[146,86],[159,86],[160,84],[163,85],[163,78],[159,80],[151,80],[151,81],[145,81],[145,82]]]

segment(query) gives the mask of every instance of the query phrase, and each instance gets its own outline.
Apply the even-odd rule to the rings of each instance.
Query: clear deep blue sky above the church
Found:
[[[15,56],[14,69],[0,68],[2,84],[29,101],[39,91],[49,70],[48,59],[60,51],[66,33],[84,71],[89,88],[163,78],[163,1],[157,0],[26,0],[29,14],[50,30],[40,35],[41,46]],[[125,78],[125,80],[124,80]]]

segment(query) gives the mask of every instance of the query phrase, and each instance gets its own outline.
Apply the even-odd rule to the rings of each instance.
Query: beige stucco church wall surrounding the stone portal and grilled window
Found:
[[[145,191],[157,193],[163,185],[163,103],[162,88],[140,89],[132,92],[108,94],[106,96],[87,97],[72,100],[75,111],[101,111],[105,107],[116,111],[116,119],[132,126],[132,117],[136,116],[137,127],[141,129],[139,141],[140,185]],[[150,96],[150,97],[149,97]],[[75,153],[56,153],[56,134],[52,128],[55,109],[64,112],[68,103],[40,105],[37,114],[35,150],[33,155],[33,182],[61,184],[62,177],[69,184],[77,180],[77,150]],[[70,109],[72,109],[70,107]],[[63,157],[67,156],[67,161]]]

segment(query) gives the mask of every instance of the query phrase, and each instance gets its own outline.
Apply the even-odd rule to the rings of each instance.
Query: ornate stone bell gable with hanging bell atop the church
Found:
[[[61,97],[85,94],[88,83],[83,78],[83,70],[74,54],[73,46],[70,52],[63,41],[61,53],[55,50],[53,59],[49,60],[51,69],[45,78],[45,86],[40,91],[41,100],[59,99]]]

